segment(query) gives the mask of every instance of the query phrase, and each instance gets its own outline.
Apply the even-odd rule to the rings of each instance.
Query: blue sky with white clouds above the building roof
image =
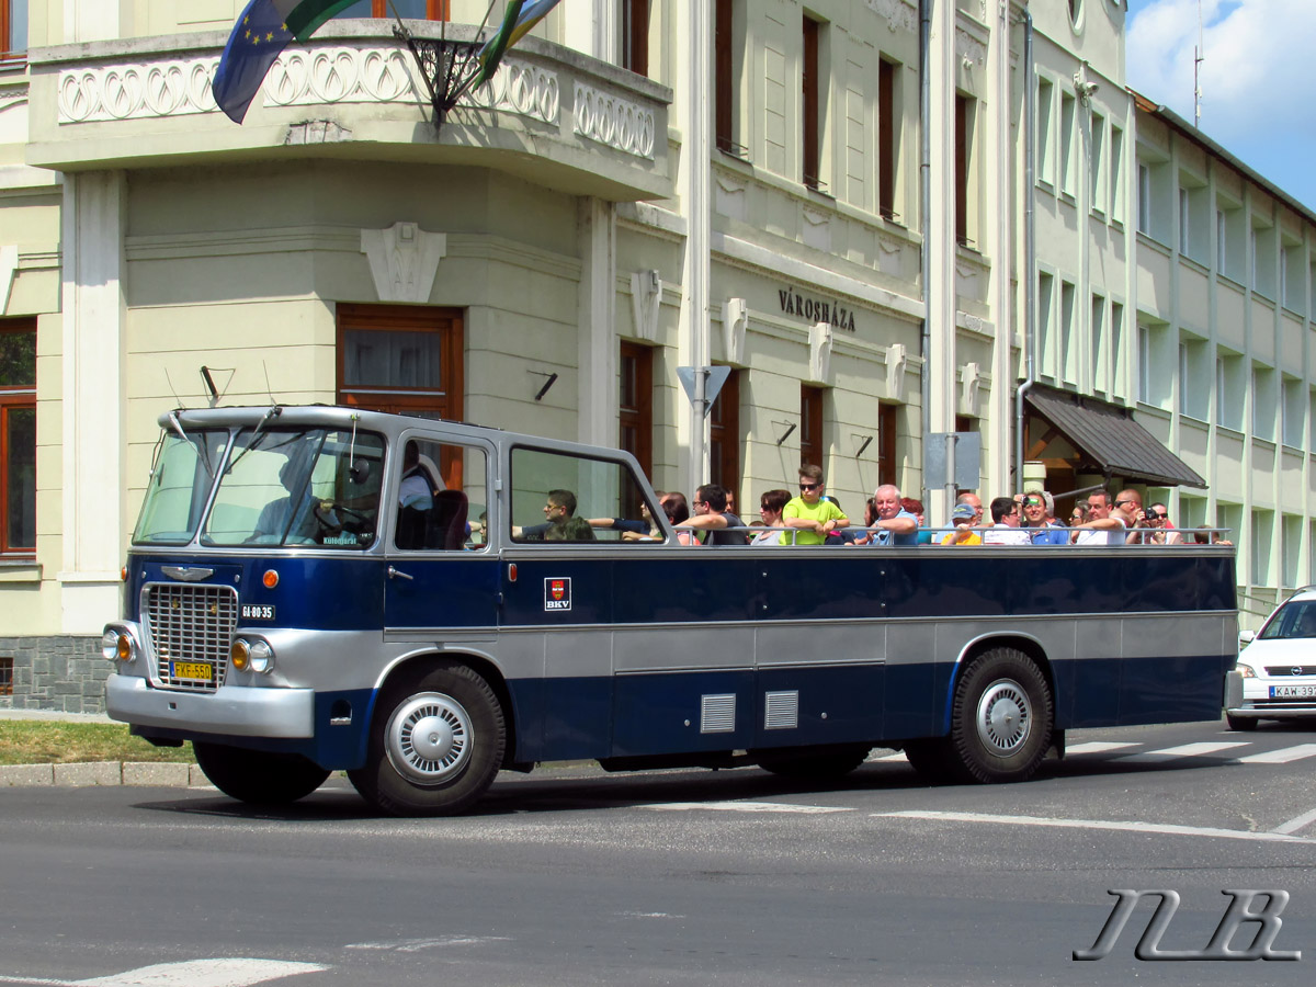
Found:
[[[1126,82],[1192,122],[1199,0],[1129,0]],[[1316,212],[1316,0],[1200,0],[1202,132]]]

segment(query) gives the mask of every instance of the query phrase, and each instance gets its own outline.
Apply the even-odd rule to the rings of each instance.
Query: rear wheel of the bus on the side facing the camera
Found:
[[[950,708],[951,767],[958,780],[1023,782],[1051,746],[1051,690],[1013,647],[982,654],[959,678]]]

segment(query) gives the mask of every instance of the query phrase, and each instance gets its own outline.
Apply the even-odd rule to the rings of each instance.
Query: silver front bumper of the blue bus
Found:
[[[151,688],[136,675],[105,679],[105,711],[112,720],[233,737],[315,737],[315,691],[221,686],[215,692]]]

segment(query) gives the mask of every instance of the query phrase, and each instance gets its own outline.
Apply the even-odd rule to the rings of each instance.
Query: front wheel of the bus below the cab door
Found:
[[[505,745],[494,690],[465,665],[442,665],[386,688],[366,766],[347,776],[380,812],[455,816],[494,783]]]

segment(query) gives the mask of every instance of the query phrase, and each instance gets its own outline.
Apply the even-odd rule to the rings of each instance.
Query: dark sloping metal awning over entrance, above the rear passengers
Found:
[[[1133,420],[1133,412],[1099,397],[1034,384],[1024,392],[1032,411],[1074,446],[1094,472],[1154,487],[1205,487],[1196,470]],[[1036,429],[1033,429],[1036,436]],[[1080,463],[1080,466],[1084,463]]]

